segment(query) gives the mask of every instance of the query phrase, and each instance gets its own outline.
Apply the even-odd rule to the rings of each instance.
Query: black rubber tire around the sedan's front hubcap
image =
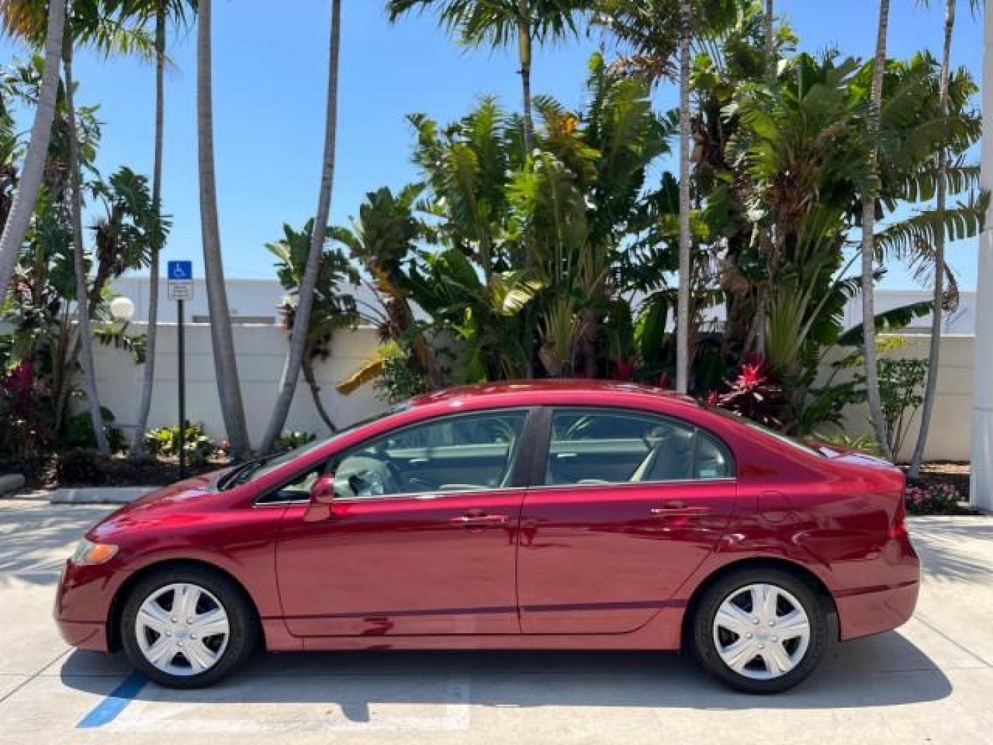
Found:
[[[149,596],[174,583],[194,584],[207,590],[227,614],[227,644],[220,659],[207,671],[197,674],[161,671],[145,659],[139,646],[135,628],[138,610]],[[124,602],[119,630],[121,645],[131,664],[151,680],[172,688],[200,688],[213,684],[243,663],[259,640],[255,609],[241,588],[222,573],[199,566],[164,568],[142,578],[131,588]]]

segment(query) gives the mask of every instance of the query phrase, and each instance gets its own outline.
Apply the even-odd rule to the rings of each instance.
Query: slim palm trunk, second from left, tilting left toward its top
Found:
[[[61,4],[58,0],[56,4]],[[96,450],[102,456],[110,455],[107,436],[103,431],[103,415],[96,393],[96,371],[93,369],[93,338],[89,331],[89,297],[86,292],[86,269],[82,257],[82,174],[79,172],[79,141],[75,122],[75,104],[72,92],[72,38],[65,34],[63,66],[66,71],[66,113],[69,116],[69,171],[70,213],[72,223],[72,271],[75,274],[76,334],[82,363],[83,387],[89,420],[93,425]]]

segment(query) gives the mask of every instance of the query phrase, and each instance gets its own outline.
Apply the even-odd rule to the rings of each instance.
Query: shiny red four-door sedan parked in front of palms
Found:
[[[775,692],[832,640],[910,618],[903,492],[884,461],[653,388],[453,388],[117,511],[56,617],[182,687],[259,645],[690,648]]]

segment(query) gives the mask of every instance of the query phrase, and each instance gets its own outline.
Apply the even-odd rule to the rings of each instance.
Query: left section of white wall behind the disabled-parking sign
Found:
[[[185,328],[187,418],[192,422],[202,422],[219,439],[223,436],[224,426],[217,402],[210,327],[206,324],[187,324]],[[143,333],[145,327],[143,324],[132,324],[132,330]],[[174,324],[159,327],[149,427],[172,425],[179,421],[176,330]],[[287,339],[287,332],[278,326],[234,327],[241,395],[253,444],[258,444],[272,412],[276,385],[286,360]],[[373,356],[377,345],[374,329],[342,331],[334,337],[331,357],[326,362],[316,363],[322,401],[339,427],[371,416],[385,407],[385,403],[376,398],[371,384],[351,395],[342,395],[335,390],[336,383],[354,373]],[[113,411],[116,424],[130,432],[138,418],[144,366],[135,365],[131,355],[120,350],[97,346],[94,352],[100,402]],[[285,428],[321,436],[328,434],[314,407],[310,388],[302,377]]]

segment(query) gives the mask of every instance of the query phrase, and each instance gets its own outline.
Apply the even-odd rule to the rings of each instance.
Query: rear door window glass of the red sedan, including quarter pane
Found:
[[[545,483],[625,484],[734,475],[726,448],[691,424],[626,411],[552,415]]]

